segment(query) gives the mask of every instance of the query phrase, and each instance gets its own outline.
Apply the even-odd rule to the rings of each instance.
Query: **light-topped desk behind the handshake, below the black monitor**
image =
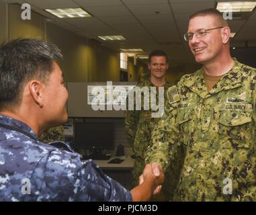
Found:
[[[111,158],[113,159],[113,157]],[[126,189],[132,189],[132,168],[134,159],[128,156],[122,163],[108,163],[108,161],[95,160],[102,171],[121,183]]]

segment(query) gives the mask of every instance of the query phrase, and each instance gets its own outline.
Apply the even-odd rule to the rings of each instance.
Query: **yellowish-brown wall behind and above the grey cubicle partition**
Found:
[[[102,46],[97,40],[88,40],[46,23],[46,38],[57,44],[65,60],[60,62],[65,81],[119,81],[120,57],[118,52]]]

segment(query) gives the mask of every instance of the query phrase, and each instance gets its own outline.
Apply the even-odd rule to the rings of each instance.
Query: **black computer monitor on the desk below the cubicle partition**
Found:
[[[111,150],[114,149],[113,122],[75,123],[75,149]]]

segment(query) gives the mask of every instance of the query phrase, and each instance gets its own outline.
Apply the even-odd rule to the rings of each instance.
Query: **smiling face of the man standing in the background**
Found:
[[[169,67],[165,56],[152,56],[151,62],[148,63],[148,69],[151,71],[151,77],[162,79]]]

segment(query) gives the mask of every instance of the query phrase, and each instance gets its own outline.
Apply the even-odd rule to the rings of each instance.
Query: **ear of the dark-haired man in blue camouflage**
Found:
[[[43,100],[43,89],[44,84],[41,81],[38,80],[32,80],[28,83],[28,88],[30,90],[30,93],[34,99],[34,101],[40,106],[44,106],[44,100]]]

